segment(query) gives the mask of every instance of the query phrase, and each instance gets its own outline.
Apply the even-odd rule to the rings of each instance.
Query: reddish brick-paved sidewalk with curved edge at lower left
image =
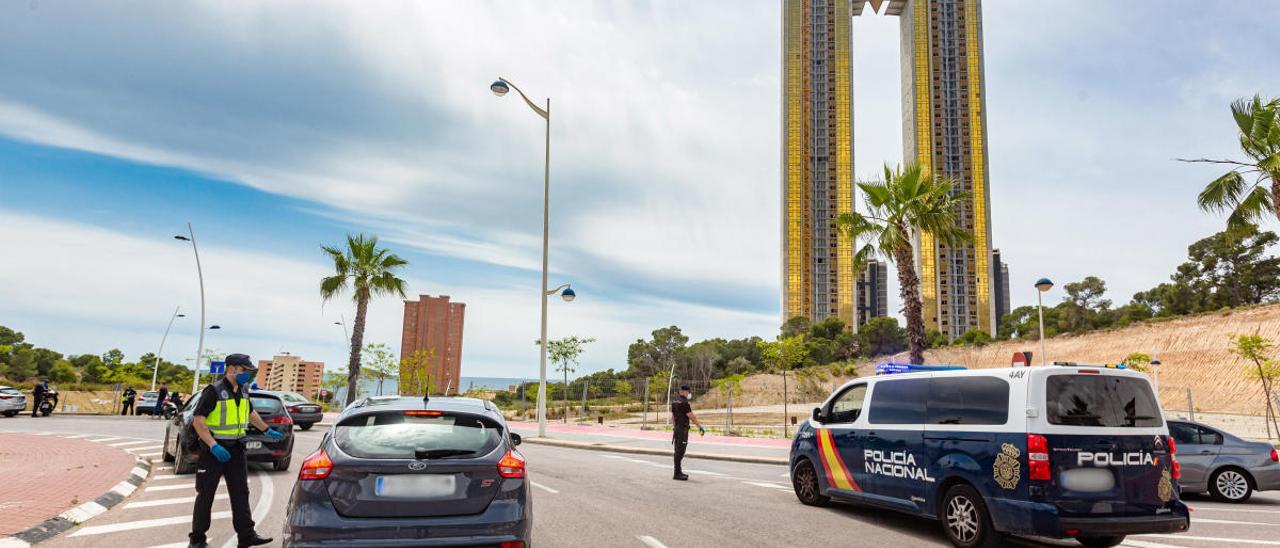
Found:
[[[128,478],[134,463],[123,449],[84,439],[0,434],[0,538],[93,501]]]

